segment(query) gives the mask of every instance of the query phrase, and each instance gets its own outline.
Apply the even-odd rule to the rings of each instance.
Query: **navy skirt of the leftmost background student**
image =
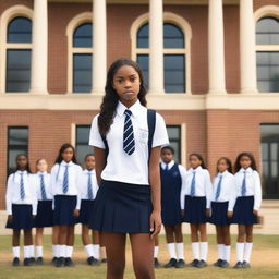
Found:
[[[34,227],[32,205],[12,204],[12,222],[8,221],[5,228],[14,230],[29,230]]]

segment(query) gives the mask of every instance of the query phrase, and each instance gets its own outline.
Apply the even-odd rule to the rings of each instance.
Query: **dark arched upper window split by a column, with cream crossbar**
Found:
[[[145,23],[136,36],[136,60],[143,69],[148,87],[149,24]],[[185,34],[173,23],[163,24],[163,77],[166,93],[186,92]]]

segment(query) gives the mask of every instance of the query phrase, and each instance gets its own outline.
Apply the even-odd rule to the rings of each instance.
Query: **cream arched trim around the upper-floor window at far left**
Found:
[[[17,17],[23,16],[33,21],[33,10],[25,5],[13,5],[7,9],[0,16],[0,94],[14,94],[5,93],[5,75],[7,75],[7,49],[31,49],[33,44],[11,44],[7,43],[7,29],[9,23]],[[19,94],[28,94],[28,92],[21,92]]]

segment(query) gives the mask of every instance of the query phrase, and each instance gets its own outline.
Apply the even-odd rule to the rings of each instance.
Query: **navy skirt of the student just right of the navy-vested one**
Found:
[[[205,223],[206,217],[206,197],[205,196],[185,196],[185,217],[184,222]]]

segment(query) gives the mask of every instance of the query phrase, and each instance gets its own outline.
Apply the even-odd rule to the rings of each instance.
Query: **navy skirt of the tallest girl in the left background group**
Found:
[[[56,195],[54,196],[54,211],[53,225],[75,225],[74,209],[76,207],[76,196]]]

